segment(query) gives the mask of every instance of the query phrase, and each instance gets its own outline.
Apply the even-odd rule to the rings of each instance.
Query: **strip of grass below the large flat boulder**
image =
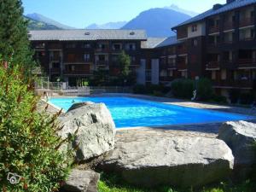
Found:
[[[99,192],[255,192],[256,183],[246,181],[241,184],[231,185],[219,183],[204,189],[173,189],[170,187],[160,187],[157,189],[145,189],[133,187],[116,175],[102,173],[101,181],[98,184]]]

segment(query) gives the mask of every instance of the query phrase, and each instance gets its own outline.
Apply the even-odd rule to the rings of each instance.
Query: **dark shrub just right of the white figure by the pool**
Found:
[[[197,99],[209,101],[213,96],[212,81],[210,79],[199,79],[196,82]]]

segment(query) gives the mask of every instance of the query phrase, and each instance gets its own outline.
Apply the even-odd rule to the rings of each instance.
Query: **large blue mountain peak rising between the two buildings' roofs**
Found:
[[[144,29],[148,37],[170,37],[175,35],[172,26],[176,26],[191,18],[189,15],[172,9],[149,9],[143,11],[135,19],[128,22],[122,29]]]

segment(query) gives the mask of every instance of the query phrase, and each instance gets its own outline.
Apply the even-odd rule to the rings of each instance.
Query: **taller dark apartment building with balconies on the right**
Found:
[[[189,78],[212,79],[224,96],[231,89],[255,89],[255,0],[227,0],[172,30],[187,48]]]

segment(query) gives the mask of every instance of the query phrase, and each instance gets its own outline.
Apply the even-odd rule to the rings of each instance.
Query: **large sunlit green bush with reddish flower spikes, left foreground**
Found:
[[[69,171],[65,154],[57,150],[63,142],[56,137],[58,114],[39,113],[32,82],[6,64],[0,61],[0,190],[55,191]],[[9,172],[18,174],[20,183],[9,183]]]

